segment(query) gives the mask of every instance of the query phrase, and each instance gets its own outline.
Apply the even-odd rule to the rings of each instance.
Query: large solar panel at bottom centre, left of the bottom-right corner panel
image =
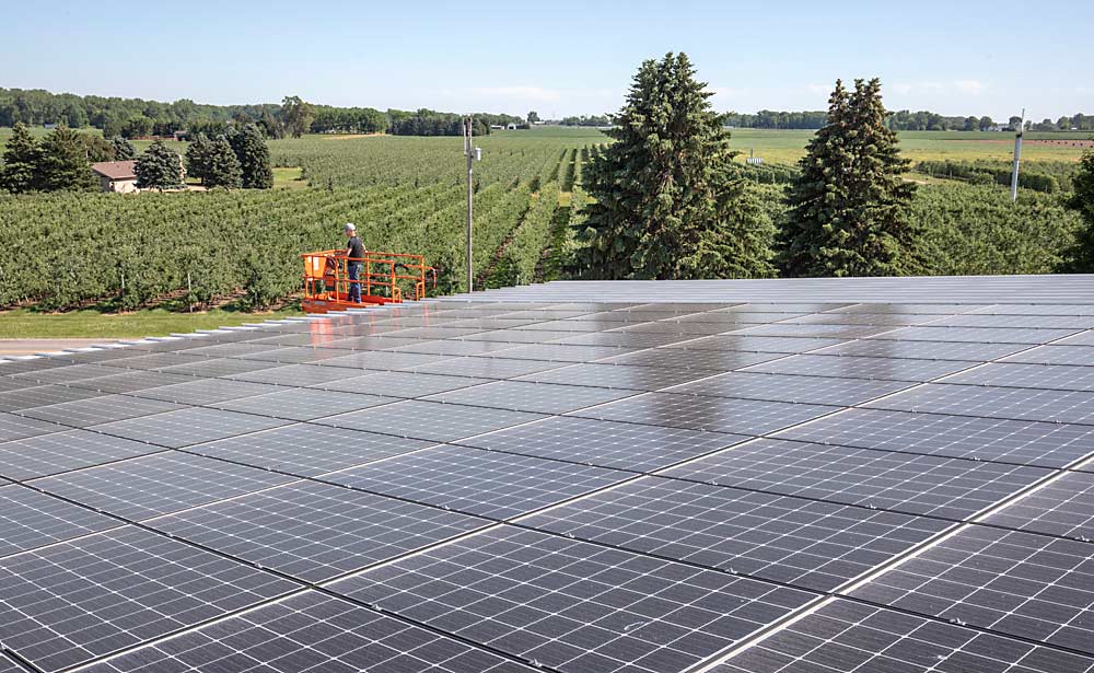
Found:
[[[680,671],[813,594],[493,529],[330,589],[559,671]]]

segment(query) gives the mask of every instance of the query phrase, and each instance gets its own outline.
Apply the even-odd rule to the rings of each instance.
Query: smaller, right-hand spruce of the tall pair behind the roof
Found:
[[[799,162],[788,195],[782,267],[789,276],[899,276],[918,267],[909,218],[915,185],[900,175],[896,134],[885,127],[881,81],[840,81],[828,121]]]

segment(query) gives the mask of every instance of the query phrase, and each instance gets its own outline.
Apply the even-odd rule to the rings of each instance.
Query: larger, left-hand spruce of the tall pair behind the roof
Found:
[[[726,170],[723,118],[685,54],[648,60],[584,175],[574,271],[590,278],[769,276],[770,220]]]

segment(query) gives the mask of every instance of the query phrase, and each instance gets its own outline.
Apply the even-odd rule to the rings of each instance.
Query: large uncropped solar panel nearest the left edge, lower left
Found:
[[[31,485],[140,521],[291,481],[265,469],[166,451],[35,479]]]

